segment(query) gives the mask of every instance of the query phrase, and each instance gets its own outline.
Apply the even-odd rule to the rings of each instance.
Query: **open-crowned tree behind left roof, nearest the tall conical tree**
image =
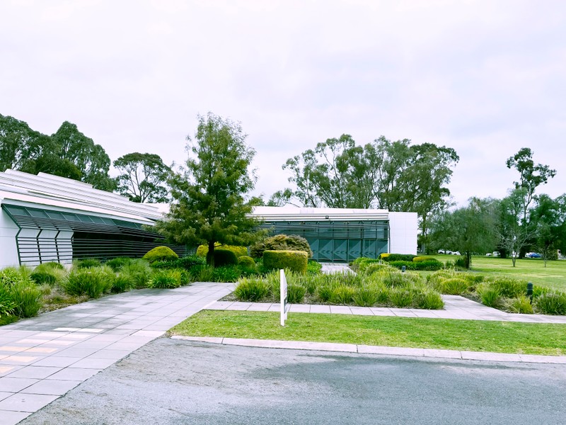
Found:
[[[117,176],[117,192],[129,200],[140,203],[168,202],[167,179],[171,168],[163,164],[157,154],[125,154],[114,162],[120,172]]]

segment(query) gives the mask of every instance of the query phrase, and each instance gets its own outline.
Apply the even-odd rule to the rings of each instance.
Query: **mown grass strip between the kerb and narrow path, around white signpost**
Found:
[[[566,355],[566,324],[204,310],[169,331],[185,336],[318,341]]]

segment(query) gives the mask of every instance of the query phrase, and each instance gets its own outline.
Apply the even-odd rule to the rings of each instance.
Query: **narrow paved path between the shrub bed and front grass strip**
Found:
[[[442,295],[444,310],[419,310],[390,307],[350,307],[347,305],[291,304],[289,312],[360,314],[364,316],[430,317],[433,319],[499,320],[504,322],[566,323],[566,316],[544,314],[514,314],[487,307],[459,295]],[[208,310],[248,310],[279,312],[278,303],[217,301]]]

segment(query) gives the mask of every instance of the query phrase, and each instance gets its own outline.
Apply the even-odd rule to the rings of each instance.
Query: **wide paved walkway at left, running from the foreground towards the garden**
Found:
[[[135,290],[0,327],[0,425],[17,424],[232,290]]]

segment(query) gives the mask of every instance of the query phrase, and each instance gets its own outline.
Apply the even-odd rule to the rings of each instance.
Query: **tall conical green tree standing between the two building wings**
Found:
[[[245,198],[255,186],[249,170],[255,151],[239,123],[212,113],[199,116],[187,151],[186,168],[170,180],[171,210],[155,228],[179,244],[207,244],[207,262],[214,265],[215,242],[248,245],[258,235]]]

